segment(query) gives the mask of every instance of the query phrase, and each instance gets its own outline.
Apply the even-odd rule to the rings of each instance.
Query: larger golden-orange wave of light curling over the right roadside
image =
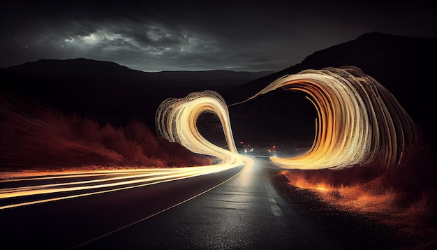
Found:
[[[415,123],[396,98],[360,68],[285,75],[249,99],[278,88],[304,91],[318,113],[311,149],[286,159],[271,157],[283,168],[339,169],[364,164],[389,168],[399,165],[405,147],[419,138]]]

